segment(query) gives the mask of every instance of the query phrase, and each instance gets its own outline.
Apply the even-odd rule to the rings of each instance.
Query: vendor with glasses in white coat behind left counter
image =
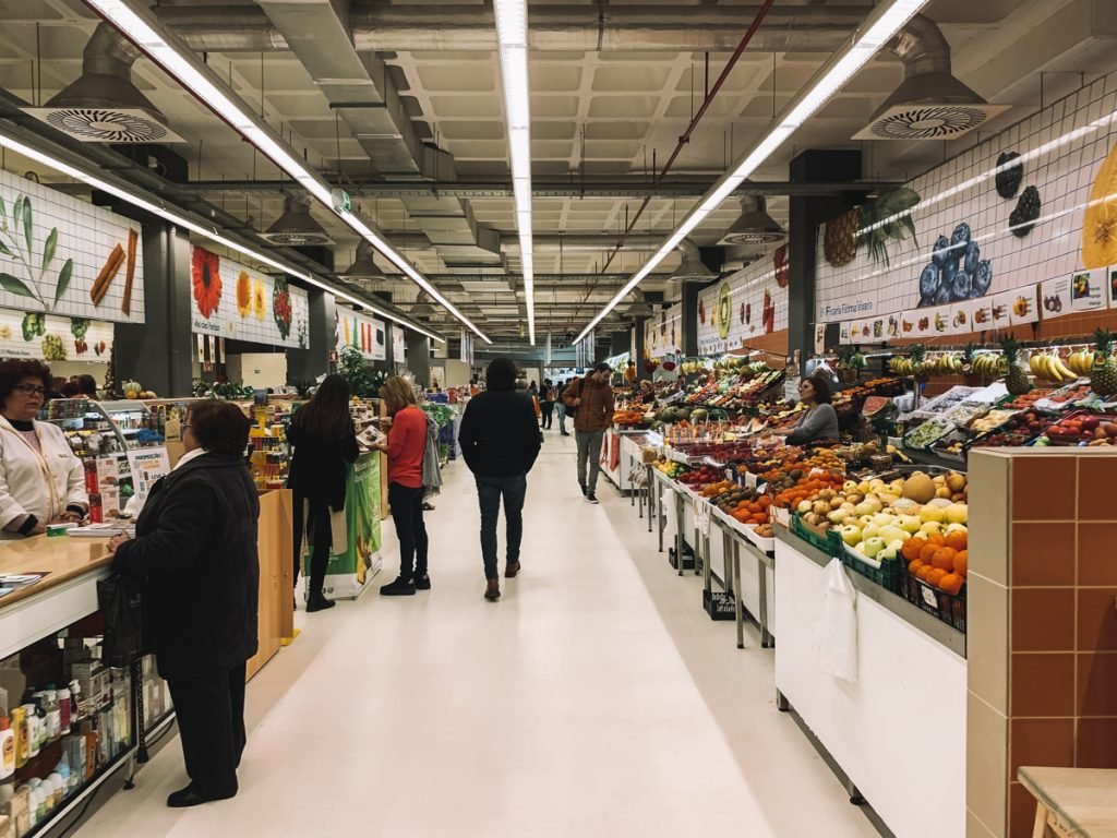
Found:
[[[89,508],[82,460],[61,428],[36,421],[49,384],[39,361],[0,362],[0,540],[78,523]]]

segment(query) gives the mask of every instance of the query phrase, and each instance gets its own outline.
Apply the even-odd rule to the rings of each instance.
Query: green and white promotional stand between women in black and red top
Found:
[[[345,550],[330,553],[325,593],[353,599],[380,572],[380,455],[363,454],[345,478]],[[303,566],[308,566],[308,554]]]

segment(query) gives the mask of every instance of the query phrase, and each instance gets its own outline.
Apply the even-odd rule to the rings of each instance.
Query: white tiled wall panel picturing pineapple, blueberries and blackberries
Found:
[[[818,322],[1025,295],[1067,276],[1086,276],[1082,311],[1104,307],[1117,265],[1115,114],[1109,74],[831,219],[818,240]],[[1015,316],[1034,322],[1034,307]]]

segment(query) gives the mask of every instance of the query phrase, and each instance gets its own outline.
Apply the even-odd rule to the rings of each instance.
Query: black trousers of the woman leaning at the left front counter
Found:
[[[169,678],[190,783],[206,797],[237,793],[245,751],[245,665],[201,676]]]

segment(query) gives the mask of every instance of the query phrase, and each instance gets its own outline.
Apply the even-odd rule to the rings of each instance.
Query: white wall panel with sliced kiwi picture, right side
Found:
[[[777,249],[698,295],[699,353],[742,349],[756,337],[787,327],[784,250]]]

